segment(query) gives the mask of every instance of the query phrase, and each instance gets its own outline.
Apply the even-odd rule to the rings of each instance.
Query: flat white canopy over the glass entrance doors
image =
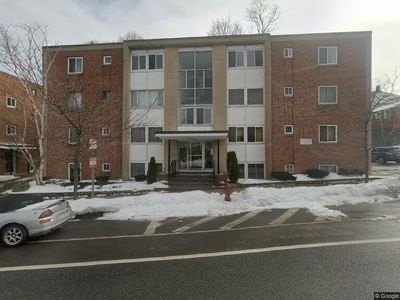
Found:
[[[227,130],[205,130],[205,131],[158,131],[156,137],[163,140],[178,141],[209,141],[226,140],[228,138]]]

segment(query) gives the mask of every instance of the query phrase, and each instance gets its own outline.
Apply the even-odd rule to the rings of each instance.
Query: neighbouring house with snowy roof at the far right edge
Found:
[[[400,95],[376,94],[379,104],[372,118],[373,147],[400,145]]]

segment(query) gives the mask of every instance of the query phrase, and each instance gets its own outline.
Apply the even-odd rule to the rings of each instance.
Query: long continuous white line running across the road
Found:
[[[259,248],[259,249],[210,252],[210,253],[199,253],[199,254],[188,254],[188,255],[172,255],[172,256],[143,257],[143,258],[116,259],[116,260],[100,260],[100,261],[88,261],[88,262],[76,262],[76,263],[2,267],[2,268],[0,268],[0,273],[12,272],[12,271],[48,270],[48,269],[60,269],[60,268],[77,268],[77,267],[93,267],[93,266],[105,266],[105,265],[135,264],[135,263],[158,262],[158,261],[188,260],[188,259],[212,258],[212,257],[221,257],[221,256],[236,256],[236,255],[245,255],[245,254],[267,253],[267,252],[285,251],[285,250],[327,248],[327,247],[335,247],[335,246],[378,244],[378,243],[397,243],[397,242],[400,242],[400,238],[299,244],[299,245],[290,245],[290,246],[276,246],[276,247]]]

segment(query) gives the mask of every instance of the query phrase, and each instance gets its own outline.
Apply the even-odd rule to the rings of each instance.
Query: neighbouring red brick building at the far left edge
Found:
[[[30,166],[18,151],[20,146],[32,148],[36,144],[29,107],[19,79],[0,71],[0,175],[29,173]],[[28,138],[21,142],[24,130]]]

